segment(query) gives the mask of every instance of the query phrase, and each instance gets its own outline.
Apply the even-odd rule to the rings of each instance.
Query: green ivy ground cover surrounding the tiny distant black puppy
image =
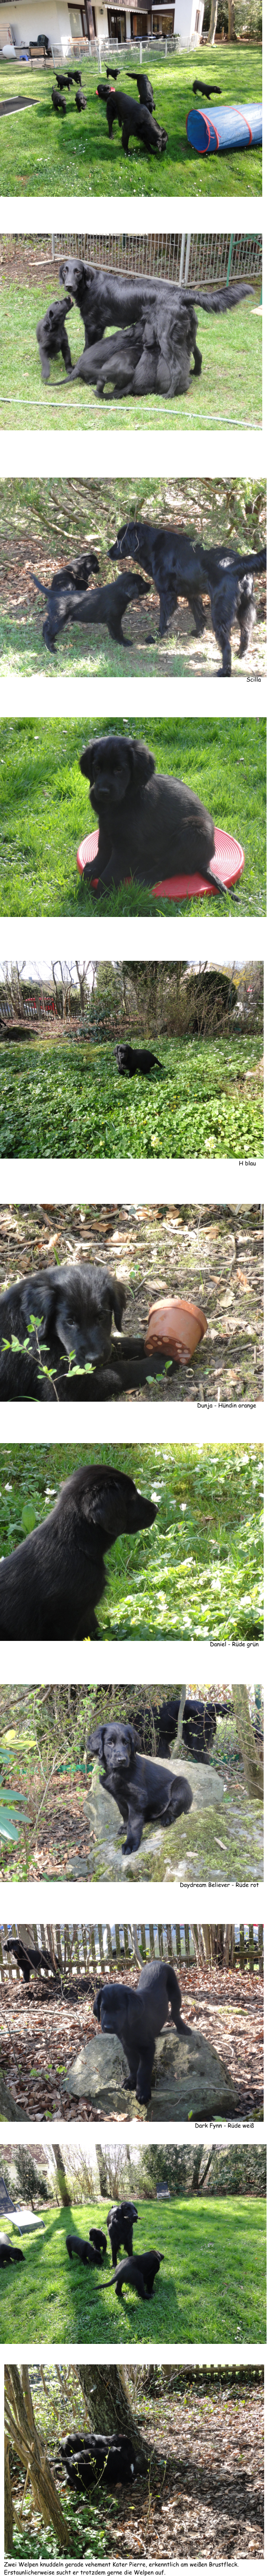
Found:
[[[257,1048],[254,1048],[257,1061]],[[62,1162],[228,1162],[262,1157],[262,1087],[236,1084],[252,1069],[249,1038],[162,1041],[164,1084],[123,1082],[113,1046],[36,1038],[0,1046],[0,1154],[51,1154]],[[234,1092],[231,1092],[234,1077]]]

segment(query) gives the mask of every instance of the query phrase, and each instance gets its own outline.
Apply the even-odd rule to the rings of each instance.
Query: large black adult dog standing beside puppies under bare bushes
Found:
[[[234,554],[231,546],[200,546],[198,538],[182,536],[180,528],[151,528],[149,520],[128,520],[118,528],[116,544],[108,549],[110,562],[144,564],[144,572],[154,580],[159,590],[159,636],[167,634],[169,618],[175,616],[177,598],[190,600],[195,631],[205,626],[203,590],[211,598],[213,634],[221,644],[223,665],[218,680],[231,677],[231,623],[239,618],[239,657],[244,657],[252,623],[254,623],[254,572],[267,564],[267,546],[259,554]]]

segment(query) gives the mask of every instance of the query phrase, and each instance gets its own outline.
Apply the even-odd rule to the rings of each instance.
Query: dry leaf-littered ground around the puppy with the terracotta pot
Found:
[[[41,1043],[51,1041],[51,1028]],[[72,1023],[56,1023],[54,1043],[69,1038]],[[149,1306],[159,1298],[193,1298],[208,1316],[208,1334],[198,1345],[195,1360],[175,1376],[154,1378],[151,1386],[134,1386],[118,1404],[262,1404],[262,1262],[264,1226],[254,1208],[234,1216],[223,1203],[213,1206],[98,1206],[85,1224],[77,1208],[0,1208],[0,1278],[44,1270],[51,1262],[105,1260],[118,1278],[126,1275],[128,1303],[123,1332],[146,1332]],[[108,1406],[110,1409],[110,1406]]]

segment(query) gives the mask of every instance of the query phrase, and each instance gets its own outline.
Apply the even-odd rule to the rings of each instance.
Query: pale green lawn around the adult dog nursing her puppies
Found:
[[[90,384],[69,384],[64,358],[51,358],[49,384],[41,379],[36,322],[46,312],[49,301],[59,294],[59,268],[54,268],[54,291],[46,294],[46,283],[31,286],[5,286],[3,291],[3,394],[0,394],[0,428],[10,430],[85,430],[87,415],[90,428],[98,433],[136,430],[262,430],[262,309],[259,289],[252,286],[252,304],[239,304],[228,314],[198,314],[198,345],[203,350],[203,376],[190,374],[187,394],[167,399],[164,394],[139,394],[113,402],[105,392],[98,399]],[[108,325],[105,337],[118,325]],[[85,348],[85,327],[77,304],[67,314],[67,337],[72,348],[72,366]],[[103,574],[105,580],[105,574]],[[39,595],[36,595],[39,600]],[[41,616],[41,600],[39,600]],[[136,636],[139,639],[139,636]],[[108,644],[108,639],[105,639]],[[116,647],[113,647],[116,649]],[[39,670],[46,662],[46,647],[41,634],[36,636]],[[103,639],[98,629],[80,639],[82,662],[87,654],[95,665],[95,654],[103,670]],[[108,644],[110,652],[110,644]],[[213,636],[213,659],[218,654]],[[59,649],[59,662],[64,659],[64,647]],[[131,654],[134,667],[134,654]],[[200,667],[200,657],[198,657]]]

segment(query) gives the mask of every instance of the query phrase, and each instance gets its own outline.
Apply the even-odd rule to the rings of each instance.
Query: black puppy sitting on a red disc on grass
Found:
[[[103,886],[121,886],[134,876],[134,886],[154,886],[157,876],[187,871],[205,876],[208,886],[223,894],[213,871],[213,822],[208,806],[180,778],[157,778],[154,755],[131,734],[95,734],[82,752],[80,770],[90,778],[90,804],[100,817],[98,840],[98,899]]]

